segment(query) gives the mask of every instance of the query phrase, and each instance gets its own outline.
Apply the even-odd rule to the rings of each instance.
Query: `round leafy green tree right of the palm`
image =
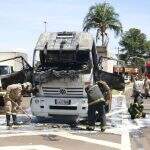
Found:
[[[125,32],[119,44],[122,47],[121,51],[126,62],[135,56],[143,58],[143,54],[148,46],[146,46],[146,35],[136,28],[131,28]]]

